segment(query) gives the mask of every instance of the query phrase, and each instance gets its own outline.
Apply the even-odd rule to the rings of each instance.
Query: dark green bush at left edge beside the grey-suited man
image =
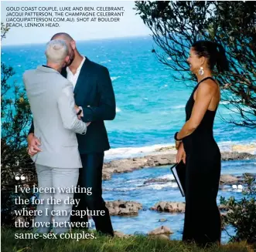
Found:
[[[1,39],[5,38],[5,25],[1,24]],[[30,197],[20,191],[15,193],[15,185],[32,186],[36,183],[35,167],[26,153],[26,127],[31,123],[29,101],[24,89],[9,84],[10,78],[15,71],[12,66],[6,66],[1,62],[1,177],[2,177],[2,224],[13,224],[15,219],[14,210],[22,209],[15,204],[15,197]],[[25,176],[26,180],[15,180],[15,175]]]

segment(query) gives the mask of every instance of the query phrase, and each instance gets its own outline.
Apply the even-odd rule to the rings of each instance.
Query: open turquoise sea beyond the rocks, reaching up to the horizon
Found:
[[[2,47],[2,62],[13,66],[12,80],[22,84],[22,73],[45,63],[45,45]],[[191,88],[175,82],[151,52],[151,37],[77,42],[90,60],[108,67],[117,99],[117,116],[106,122],[112,148],[173,143],[172,136],[185,121],[185,105]],[[220,104],[214,124],[217,142],[255,142],[256,129],[224,123],[230,110]],[[120,154],[120,153],[119,153]]]

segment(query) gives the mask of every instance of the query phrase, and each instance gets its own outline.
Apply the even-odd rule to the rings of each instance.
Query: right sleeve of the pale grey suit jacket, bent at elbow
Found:
[[[87,125],[77,118],[76,110],[74,109],[75,101],[73,98],[73,86],[69,82],[60,92],[58,99],[58,109],[63,121],[65,129],[70,129],[75,133],[84,135],[87,132]]]

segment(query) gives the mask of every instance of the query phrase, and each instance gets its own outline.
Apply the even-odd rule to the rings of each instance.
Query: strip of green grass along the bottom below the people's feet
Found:
[[[2,252],[253,252],[246,243],[213,245],[207,249],[195,244],[184,244],[180,240],[162,240],[157,237],[132,236],[109,238],[96,232],[96,239],[57,239],[57,240],[22,240],[15,239],[15,234],[28,234],[28,230],[2,227]],[[81,234],[76,230],[75,234]]]

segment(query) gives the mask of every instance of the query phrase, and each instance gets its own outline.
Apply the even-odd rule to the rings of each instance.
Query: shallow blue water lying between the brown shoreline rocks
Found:
[[[243,170],[241,170],[243,166]],[[255,173],[256,160],[236,160],[222,162],[223,174],[242,175],[242,173]],[[111,180],[103,183],[104,200],[132,200],[142,203],[143,210],[140,210],[137,217],[111,217],[114,230],[120,230],[125,234],[146,234],[162,225],[170,227],[174,234],[171,239],[180,240],[182,238],[184,214],[183,213],[157,213],[149,210],[159,201],[185,201],[181,196],[179,188],[174,182],[167,183],[147,183],[146,180],[152,178],[162,178],[172,180],[173,176],[169,170],[170,166],[145,168],[135,170],[132,173],[114,174]],[[203,190],[203,188],[202,188]],[[241,191],[234,191],[231,186],[226,186],[224,190],[219,190],[217,203],[220,203],[220,196],[235,197],[237,200],[244,197]],[[203,202],[202,202],[203,204]],[[159,222],[159,219],[166,219],[166,222]],[[234,234],[234,230],[227,227],[229,234]],[[222,242],[227,242],[227,233],[222,232]]]

